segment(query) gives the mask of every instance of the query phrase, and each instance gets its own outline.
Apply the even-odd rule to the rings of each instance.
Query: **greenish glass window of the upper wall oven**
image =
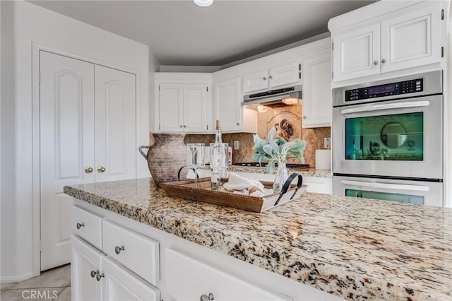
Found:
[[[424,113],[345,119],[346,160],[424,160]]]

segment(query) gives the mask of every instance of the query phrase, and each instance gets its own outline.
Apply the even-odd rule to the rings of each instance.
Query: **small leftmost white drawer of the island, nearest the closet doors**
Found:
[[[97,249],[102,249],[102,218],[100,216],[72,206],[71,230]]]

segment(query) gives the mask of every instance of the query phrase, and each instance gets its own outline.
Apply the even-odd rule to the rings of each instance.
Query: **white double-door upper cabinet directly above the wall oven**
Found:
[[[393,10],[374,24],[348,27],[352,30],[337,33],[333,28],[333,81],[441,61],[441,4],[423,5]]]

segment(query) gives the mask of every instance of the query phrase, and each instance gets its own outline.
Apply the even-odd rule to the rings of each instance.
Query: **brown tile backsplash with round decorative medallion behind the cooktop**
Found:
[[[267,139],[267,133],[272,126],[278,126],[278,133],[281,136],[291,136],[302,138],[307,141],[304,149],[304,161],[311,167],[315,167],[316,150],[323,149],[323,138],[331,137],[331,127],[319,127],[313,129],[303,129],[302,106],[275,107],[264,113],[258,114],[258,134],[261,138]],[[215,135],[188,134],[185,136],[185,143],[212,143],[215,141]],[[232,151],[232,163],[251,162],[253,155],[253,134],[237,133],[222,134],[222,141],[229,143],[234,148],[234,141],[239,141],[239,150]],[[297,158],[289,158],[289,163],[299,163]]]

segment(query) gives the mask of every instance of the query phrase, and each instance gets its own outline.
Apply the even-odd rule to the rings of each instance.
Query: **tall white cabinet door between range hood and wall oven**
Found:
[[[304,128],[331,126],[331,59],[329,54],[303,62]]]

